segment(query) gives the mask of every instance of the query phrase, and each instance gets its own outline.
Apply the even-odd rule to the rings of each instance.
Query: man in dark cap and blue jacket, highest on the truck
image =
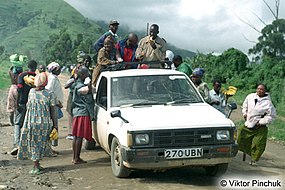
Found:
[[[119,28],[119,22],[117,20],[111,20],[109,23],[109,31],[105,32],[95,43],[94,43],[94,49],[96,52],[99,52],[99,50],[104,46],[104,40],[107,36],[111,36],[115,42],[117,43],[118,35],[116,34],[117,30]]]

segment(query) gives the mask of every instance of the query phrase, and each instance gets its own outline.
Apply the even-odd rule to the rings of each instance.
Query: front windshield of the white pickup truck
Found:
[[[184,75],[114,77],[111,89],[112,107],[203,102]]]

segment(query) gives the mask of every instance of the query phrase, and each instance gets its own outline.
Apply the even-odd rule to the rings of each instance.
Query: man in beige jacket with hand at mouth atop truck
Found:
[[[136,50],[136,58],[139,61],[164,60],[167,45],[166,41],[157,35],[158,33],[158,25],[152,24],[149,29],[149,35],[139,41],[138,48]]]

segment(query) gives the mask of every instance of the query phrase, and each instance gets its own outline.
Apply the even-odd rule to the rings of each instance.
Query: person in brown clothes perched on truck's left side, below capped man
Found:
[[[96,86],[97,78],[107,65],[117,64],[121,62],[119,52],[115,48],[114,40],[107,37],[104,41],[104,47],[98,52],[97,64],[92,74],[92,84]]]

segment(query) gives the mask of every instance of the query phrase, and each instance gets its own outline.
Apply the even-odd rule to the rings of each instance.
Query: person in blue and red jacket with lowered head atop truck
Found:
[[[138,47],[138,36],[135,33],[129,33],[128,37],[120,40],[115,47],[119,51],[120,57],[124,62],[137,61],[135,53]],[[137,64],[134,64],[131,65],[131,68],[137,68],[137,66]]]

